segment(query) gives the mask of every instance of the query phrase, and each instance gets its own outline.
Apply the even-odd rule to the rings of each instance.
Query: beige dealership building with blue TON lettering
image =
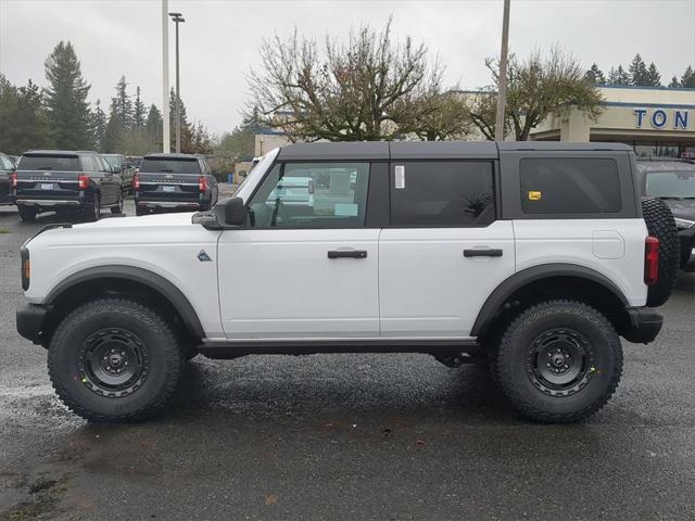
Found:
[[[596,120],[572,109],[531,130],[543,141],[608,141],[634,147],[637,155],[695,155],[695,89],[599,87]]]

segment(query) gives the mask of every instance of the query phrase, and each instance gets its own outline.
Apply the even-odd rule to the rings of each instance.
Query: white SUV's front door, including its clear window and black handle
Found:
[[[379,229],[365,228],[369,163],[277,164],[222,233],[229,339],[379,335]]]

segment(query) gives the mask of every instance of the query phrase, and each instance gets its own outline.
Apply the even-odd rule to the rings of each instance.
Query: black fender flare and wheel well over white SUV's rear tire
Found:
[[[620,288],[595,269],[557,263],[526,268],[497,285],[480,308],[470,335],[484,340],[491,326],[517,301],[538,302],[545,297],[589,301],[608,316],[619,332],[626,327],[626,308],[630,304]]]

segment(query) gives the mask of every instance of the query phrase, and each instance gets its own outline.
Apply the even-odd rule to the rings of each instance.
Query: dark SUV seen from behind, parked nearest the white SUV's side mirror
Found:
[[[146,155],[134,188],[137,215],[210,209],[218,195],[217,180],[205,157],[190,154]]]

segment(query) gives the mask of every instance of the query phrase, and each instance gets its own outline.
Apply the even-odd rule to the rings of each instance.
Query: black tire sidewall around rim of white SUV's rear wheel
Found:
[[[603,317],[601,317],[603,318]],[[541,317],[527,316],[511,325],[503,338],[498,357],[501,382],[506,382],[507,395],[521,410],[531,409],[547,415],[571,419],[574,415],[607,399],[622,371],[620,341],[611,330],[606,331],[601,322],[571,310],[556,310]],[[583,335],[590,344],[595,371],[580,391],[569,396],[549,396],[536,389],[527,371],[528,354],[532,342],[542,333],[554,328],[568,328]]]

